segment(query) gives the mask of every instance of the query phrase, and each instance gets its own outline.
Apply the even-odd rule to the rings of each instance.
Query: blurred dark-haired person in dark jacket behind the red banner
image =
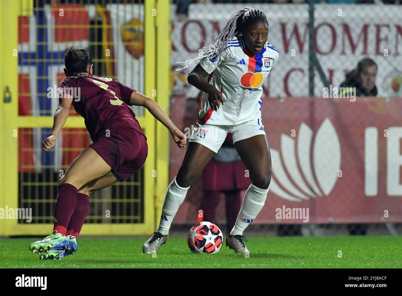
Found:
[[[349,93],[353,96],[353,88],[356,88],[357,97],[377,96],[375,77],[377,76],[377,64],[371,58],[363,58],[358,64],[357,69],[352,70],[346,75],[346,80],[340,87],[346,87],[339,97]]]

